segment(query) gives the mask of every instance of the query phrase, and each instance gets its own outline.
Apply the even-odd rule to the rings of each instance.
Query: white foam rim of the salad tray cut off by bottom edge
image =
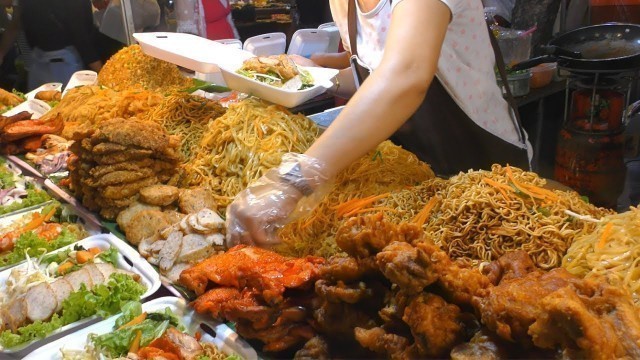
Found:
[[[200,331],[202,342],[213,343],[218,349],[226,354],[236,353],[243,359],[254,360],[258,358],[255,350],[251,348],[242,338],[238,336],[227,325],[204,318],[187,307],[187,303],[183,299],[175,297],[163,297],[142,304],[142,311],[155,312],[163,311],[165,308],[171,309],[187,328],[189,334]],[[112,316],[97,324],[93,324],[84,329],[78,330],[73,334],[69,334],[61,339],[46,344],[41,348],[33,351],[24,359],[30,360],[60,360],[62,353],[60,349],[82,350],[87,344],[87,336],[89,334],[105,334],[113,330],[114,324],[118,316]],[[215,331],[215,337],[201,330],[201,325],[205,324]]]

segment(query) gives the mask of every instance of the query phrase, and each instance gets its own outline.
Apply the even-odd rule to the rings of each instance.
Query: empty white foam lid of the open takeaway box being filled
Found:
[[[135,33],[142,51],[155,58],[201,73],[215,73],[219,66],[254,55],[200,36],[182,33]]]

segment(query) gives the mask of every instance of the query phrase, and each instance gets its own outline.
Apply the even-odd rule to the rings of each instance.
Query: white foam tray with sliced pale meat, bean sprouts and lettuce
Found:
[[[0,353],[33,349],[98,317],[115,315],[159,287],[153,268],[109,234],[28,258],[0,272]]]

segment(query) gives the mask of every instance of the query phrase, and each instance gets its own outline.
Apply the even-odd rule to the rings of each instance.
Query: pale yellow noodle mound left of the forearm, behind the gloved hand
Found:
[[[183,166],[183,187],[209,189],[225,208],[247,185],[276,167],[282,155],[303,153],[318,136],[303,115],[251,98],[210,122],[193,159]]]

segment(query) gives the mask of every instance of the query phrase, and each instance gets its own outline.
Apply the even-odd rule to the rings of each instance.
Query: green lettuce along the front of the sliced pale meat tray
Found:
[[[18,328],[15,332],[5,330],[0,333],[0,345],[12,348],[36,339],[42,339],[55,330],[93,315],[107,317],[120,312],[130,301],[140,300],[145,287],[131,276],[112,274],[105,284],[87,290],[84,285],[79,291],[62,302],[61,315],[53,315],[45,322],[37,321]],[[164,330],[163,330],[164,332]]]

